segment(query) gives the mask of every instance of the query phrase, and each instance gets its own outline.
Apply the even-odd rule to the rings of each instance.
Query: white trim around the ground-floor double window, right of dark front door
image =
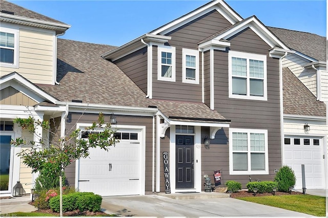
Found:
[[[233,150],[232,150],[232,133],[247,133],[247,141],[248,141],[248,169],[249,170],[233,170]],[[261,133],[264,134],[264,154],[265,154],[265,170],[251,170],[251,139],[250,139],[250,134],[251,133]],[[269,175],[269,158],[268,158],[268,129],[247,129],[247,128],[230,128],[229,129],[229,170],[230,170],[230,175]]]

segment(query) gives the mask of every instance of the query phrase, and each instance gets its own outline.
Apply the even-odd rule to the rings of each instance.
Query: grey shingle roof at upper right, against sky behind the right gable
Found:
[[[326,61],[326,38],[313,33],[268,27],[290,49],[318,61]]]

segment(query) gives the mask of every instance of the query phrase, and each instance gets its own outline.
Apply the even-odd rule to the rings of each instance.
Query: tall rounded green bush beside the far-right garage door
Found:
[[[276,174],[275,182],[278,183],[278,191],[288,192],[289,187],[294,187],[296,184],[294,170],[286,165],[281,167]]]

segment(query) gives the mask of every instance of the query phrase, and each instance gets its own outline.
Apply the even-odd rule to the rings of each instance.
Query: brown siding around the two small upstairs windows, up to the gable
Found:
[[[182,48],[198,50],[199,41],[230,25],[221,14],[213,10],[166,34],[172,37],[168,45],[176,48],[176,81],[158,81],[157,59],[153,59],[153,98],[200,102],[202,100],[201,53],[199,53],[199,84],[182,83]],[[153,52],[157,55],[157,48]]]

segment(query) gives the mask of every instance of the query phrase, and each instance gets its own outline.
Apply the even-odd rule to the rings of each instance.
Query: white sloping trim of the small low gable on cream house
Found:
[[[20,76],[16,72],[8,74],[7,76],[3,76],[0,79],[0,86],[1,89],[5,89],[8,86],[12,86],[14,89],[18,90],[19,92],[22,92],[24,95],[28,96],[29,98],[33,99],[38,103],[44,100],[48,100],[51,103],[55,103],[56,101],[58,101],[56,98],[52,97],[42,89],[38,88],[32,82]]]

